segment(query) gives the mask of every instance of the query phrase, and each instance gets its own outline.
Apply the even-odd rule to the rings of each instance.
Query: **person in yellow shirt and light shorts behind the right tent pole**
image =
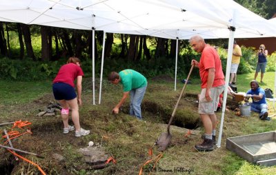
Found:
[[[237,42],[234,41],[229,85],[235,85],[237,83],[237,68],[239,68],[241,56],[242,49],[239,47],[239,45],[237,45]]]

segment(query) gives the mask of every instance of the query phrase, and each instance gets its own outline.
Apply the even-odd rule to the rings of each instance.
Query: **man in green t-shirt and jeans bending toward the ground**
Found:
[[[112,112],[119,113],[119,107],[124,104],[128,94],[130,95],[130,115],[142,119],[141,102],[144,98],[148,82],[146,77],[135,70],[122,70],[119,72],[111,72],[108,81],[112,84],[121,83],[124,88],[124,94],[121,101],[113,108]]]

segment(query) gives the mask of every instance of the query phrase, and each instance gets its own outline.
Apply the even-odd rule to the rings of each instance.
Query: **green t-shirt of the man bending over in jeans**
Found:
[[[135,70],[122,70],[119,72],[124,92],[147,86],[146,77]]]

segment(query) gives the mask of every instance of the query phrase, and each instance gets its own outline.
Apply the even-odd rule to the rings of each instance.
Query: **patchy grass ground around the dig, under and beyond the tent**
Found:
[[[249,82],[254,74],[238,74],[237,89],[246,92],[250,89]],[[258,77],[259,79],[259,77]],[[270,88],[274,91],[274,72],[266,72],[262,88]],[[91,79],[83,79],[83,106],[80,107],[80,121],[83,128],[91,130],[91,134],[81,138],[75,138],[73,132],[62,133],[62,122],[57,116],[42,116],[36,114],[48,103],[55,101],[51,92],[51,82],[8,82],[0,81],[0,123],[9,121],[30,121],[33,134],[24,134],[12,140],[14,147],[42,154],[45,158],[21,154],[37,163],[46,174],[139,174],[139,169],[151,158],[159,155],[154,145],[162,132],[166,132],[166,122],[172,114],[177,102],[179,92],[183,87],[180,81],[177,83],[177,91],[174,91],[174,81],[149,80],[148,89],[142,104],[144,120],[138,121],[128,113],[128,102],[123,110],[113,115],[111,110],[122,96],[120,85],[111,85],[103,81],[101,105],[92,105]],[[96,79],[96,102],[99,97],[99,81]],[[200,92],[200,80],[192,79],[188,84],[187,93],[198,94]],[[230,99],[228,99],[230,101]],[[193,96],[184,97],[179,103],[174,125],[190,123],[190,127],[199,121],[197,107],[193,104]],[[273,103],[268,104],[270,114],[274,114]],[[220,119],[221,112],[217,113]],[[72,121],[70,121],[72,123]],[[220,122],[219,122],[220,123]],[[260,121],[257,114],[249,117],[236,116],[235,112],[226,112],[224,117],[224,132],[221,147],[213,152],[197,152],[193,147],[201,142],[201,127],[194,134],[186,137],[187,130],[182,127],[171,127],[172,143],[152,169],[155,161],[148,163],[143,169],[143,174],[275,174],[276,166],[261,167],[248,163],[235,153],[226,150],[226,138],[230,136],[242,136],[259,132],[274,131],[276,117],[270,121]],[[197,125],[198,126],[198,125]],[[200,126],[200,125],[199,125]],[[0,131],[11,125],[0,126]],[[219,133],[219,125],[217,127]],[[117,163],[104,169],[90,169],[83,162],[79,148],[86,147],[89,141],[102,143],[106,152],[117,160]],[[3,138],[0,141],[3,144]],[[152,156],[148,155],[152,147]],[[53,153],[64,156],[64,161],[52,158]],[[11,174],[39,174],[37,167],[29,165],[25,161],[14,161],[13,156],[0,149],[0,172],[7,170],[8,165]],[[181,168],[183,171],[177,171]],[[166,172],[166,171],[172,172]]]

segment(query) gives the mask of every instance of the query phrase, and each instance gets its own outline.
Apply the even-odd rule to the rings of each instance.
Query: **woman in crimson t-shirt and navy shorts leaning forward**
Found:
[[[81,81],[83,71],[81,61],[76,57],[70,57],[66,65],[62,65],[52,84],[52,92],[55,99],[62,106],[61,118],[63,121],[63,134],[75,130],[75,136],[86,136],[90,130],[83,130],[79,124],[79,105],[81,105]],[[74,81],[77,79],[77,94],[75,92]],[[78,105],[79,104],[79,105]],[[69,107],[72,110],[72,121],[75,125],[68,125]]]

